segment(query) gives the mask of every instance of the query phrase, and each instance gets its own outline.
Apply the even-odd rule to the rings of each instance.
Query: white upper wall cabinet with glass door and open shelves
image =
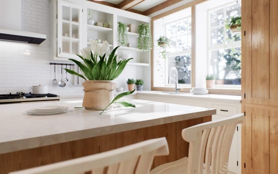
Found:
[[[53,57],[54,60],[78,59],[80,49],[90,46],[92,39],[102,43],[107,40],[110,50],[118,43],[118,21],[137,27],[150,23],[150,17],[99,3],[82,0],[52,0],[53,9]],[[57,9],[57,10],[55,10]],[[89,20],[90,19],[90,20]],[[103,23],[109,23],[104,26]],[[137,48],[139,34],[128,32],[129,46],[120,46],[118,57],[134,58],[128,65],[149,66],[150,51]]]

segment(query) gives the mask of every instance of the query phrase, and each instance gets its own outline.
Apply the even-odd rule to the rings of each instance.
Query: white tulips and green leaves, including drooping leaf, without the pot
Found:
[[[71,75],[78,76],[84,80],[114,80],[120,76],[120,74],[123,72],[124,68],[126,67],[127,63],[131,59],[133,59],[133,58],[129,58],[126,60],[118,61],[117,55],[115,55],[118,48],[119,46],[114,48],[110,53],[110,46],[107,41],[104,41],[102,44],[99,44],[97,43],[97,40],[92,40],[90,47],[86,47],[81,50],[81,55],[76,54],[80,59],[82,59],[84,63],[77,61],[75,59],[69,59],[80,68],[80,70],[83,72],[83,75],[70,69],[65,69],[65,70]],[[126,107],[127,106],[135,107],[134,104],[126,101],[116,102],[116,100],[118,100],[119,98],[125,95],[129,95],[133,92],[134,90],[118,94],[111,101],[111,103],[106,106],[106,108],[112,103],[120,103]]]

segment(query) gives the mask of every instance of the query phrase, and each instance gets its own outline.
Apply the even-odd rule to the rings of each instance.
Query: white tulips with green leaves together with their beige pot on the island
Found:
[[[110,46],[107,41],[98,44],[97,40],[92,40],[90,48],[87,47],[82,49],[81,55],[77,54],[83,63],[75,59],[69,59],[74,62],[83,73],[79,74],[73,70],[65,69],[71,75],[78,76],[85,80],[82,84],[84,87],[82,106],[85,107],[85,109],[104,111],[112,103],[120,103],[124,106],[135,107],[134,104],[128,102],[117,102],[119,98],[133,93],[134,90],[120,93],[115,98],[113,95],[116,84],[113,83],[112,80],[119,77],[127,63],[133,59],[129,58],[117,61],[117,55],[115,55],[115,53],[118,48],[119,46],[114,48],[110,53]]]

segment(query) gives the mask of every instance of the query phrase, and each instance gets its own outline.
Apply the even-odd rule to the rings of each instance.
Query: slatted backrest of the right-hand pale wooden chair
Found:
[[[243,119],[236,114],[183,129],[182,137],[189,142],[187,174],[227,174],[234,131]]]

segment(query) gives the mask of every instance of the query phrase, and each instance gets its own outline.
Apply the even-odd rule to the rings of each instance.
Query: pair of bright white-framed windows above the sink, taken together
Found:
[[[195,20],[192,20],[192,15]],[[241,16],[240,0],[207,0],[196,4],[193,14],[191,7],[185,5],[183,10],[160,18],[153,17],[152,89],[160,87],[163,90],[161,87],[165,87],[168,90],[166,87],[174,86],[173,82],[168,82],[171,67],[177,68],[178,82],[183,91],[189,91],[191,87],[206,87],[206,75],[209,74],[222,80],[222,84],[215,87],[239,89],[241,33],[231,33],[225,27],[226,21],[233,16]],[[195,26],[194,31],[192,26]],[[159,36],[171,40],[169,47],[163,49],[157,45]],[[160,55],[163,52],[166,52],[165,58]]]

